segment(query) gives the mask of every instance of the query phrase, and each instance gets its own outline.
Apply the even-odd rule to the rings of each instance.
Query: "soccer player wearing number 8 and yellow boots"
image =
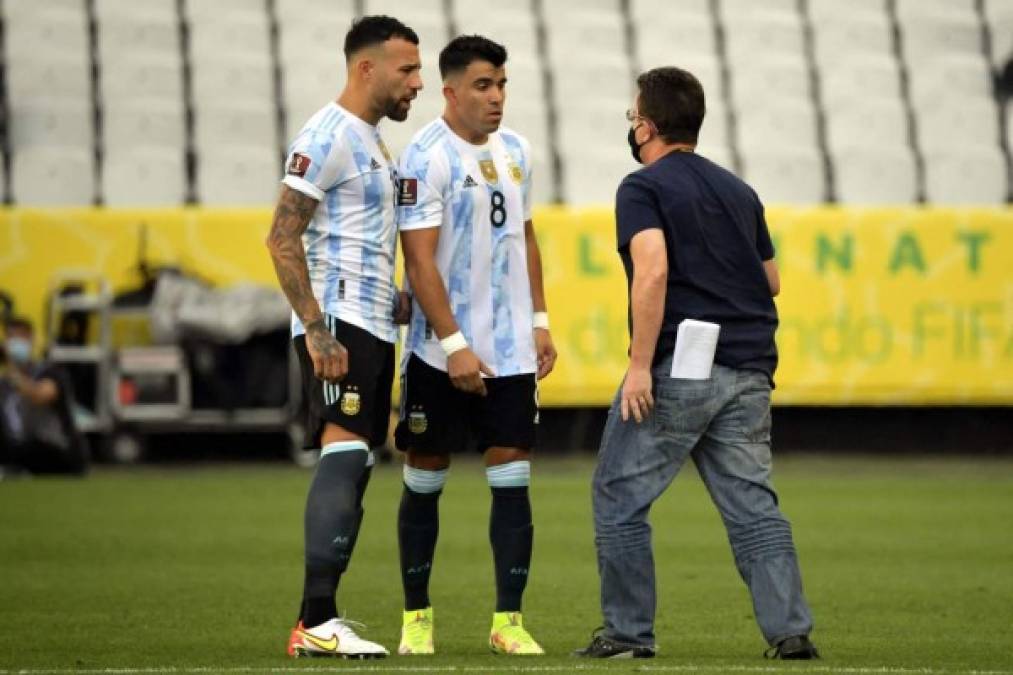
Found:
[[[406,451],[398,542],[404,614],[398,653],[433,654],[430,573],[450,454],[469,435],[492,495],[496,604],[489,648],[536,655],[521,596],[531,564],[528,483],[538,423],[536,379],[553,367],[538,242],[531,148],[500,127],[506,50],[478,35],[440,54],[446,107],[400,160],[398,227],[414,293],[401,418]]]

